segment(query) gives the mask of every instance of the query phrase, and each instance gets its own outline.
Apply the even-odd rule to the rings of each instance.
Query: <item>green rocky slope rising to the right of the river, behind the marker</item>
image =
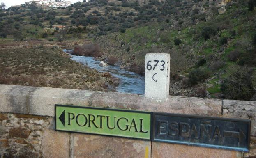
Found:
[[[171,95],[255,100],[255,11],[242,1],[192,4],[180,16],[96,38],[102,60],[143,74],[146,53],[170,53]]]

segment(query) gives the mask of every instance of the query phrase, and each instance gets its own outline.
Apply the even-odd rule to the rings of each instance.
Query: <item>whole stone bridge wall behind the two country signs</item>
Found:
[[[54,131],[54,104],[251,120],[250,153]],[[0,85],[0,158],[244,158],[256,156],[256,102]]]

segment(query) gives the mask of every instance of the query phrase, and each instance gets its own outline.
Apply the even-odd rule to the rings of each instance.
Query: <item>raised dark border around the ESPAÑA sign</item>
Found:
[[[173,114],[173,113],[166,113],[166,112],[153,112],[153,135],[152,135],[152,141],[153,142],[165,142],[165,143],[171,143],[171,144],[182,144],[182,145],[189,145],[189,146],[197,146],[197,147],[207,147],[207,148],[215,148],[215,149],[227,149],[227,150],[233,150],[233,151],[243,151],[243,152],[249,152],[250,149],[250,134],[251,134],[251,120],[248,119],[235,119],[235,118],[224,118],[224,117],[206,117],[206,116],[198,116],[198,115],[191,115],[191,114]],[[248,142],[247,142],[247,149],[240,148],[240,147],[225,147],[225,146],[218,146],[213,144],[199,144],[199,143],[190,143],[190,142],[182,142],[182,141],[172,141],[172,140],[164,140],[164,139],[155,139],[155,129],[156,126],[156,115],[164,115],[164,116],[171,116],[171,117],[186,117],[186,118],[195,118],[195,119],[212,119],[212,120],[221,120],[221,121],[235,121],[235,122],[246,122],[249,125],[248,132],[244,133],[248,136]]]

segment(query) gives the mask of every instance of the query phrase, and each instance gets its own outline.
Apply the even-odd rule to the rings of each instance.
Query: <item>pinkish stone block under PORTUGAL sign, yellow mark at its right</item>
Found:
[[[150,141],[72,134],[74,158],[150,158]]]

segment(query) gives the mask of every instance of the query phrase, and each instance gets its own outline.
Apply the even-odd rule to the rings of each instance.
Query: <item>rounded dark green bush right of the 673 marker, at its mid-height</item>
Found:
[[[189,72],[189,84],[196,85],[198,82],[202,82],[206,78],[210,77],[210,71],[208,69],[197,68]]]

